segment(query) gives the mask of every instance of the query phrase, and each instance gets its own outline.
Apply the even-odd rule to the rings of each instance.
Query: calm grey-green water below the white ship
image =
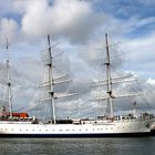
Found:
[[[0,138],[0,155],[155,155],[155,137]]]

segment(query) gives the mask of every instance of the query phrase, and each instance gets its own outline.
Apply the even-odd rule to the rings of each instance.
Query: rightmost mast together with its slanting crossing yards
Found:
[[[131,97],[131,96],[137,96],[142,95],[143,93],[133,93],[133,94],[123,94],[123,95],[115,95],[113,94],[113,84],[118,84],[118,83],[124,83],[124,82],[132,82],[135,81],[136,79],[128,79],[124,80],[126,78],[133,76],[133,74],[125,74],[122,76],[115,76],[112,78],[111,74],[111,56],[110,56],[110,45],[108,45],[108,40],[107,40],[107,33],[105,33],[105,49],[106,49],[106,62],[104,63],[106,66],[106,79],[99,81],[99,83],[92,83],[92,86],[103,86],[106,85],[106,96],[102,97],[96,97],[93,101],[103,101],[106,100],[107,102],[107,116],[113,121],[114,118],[114,110],[113,110],[113,99],[121,99],[121,97]]]

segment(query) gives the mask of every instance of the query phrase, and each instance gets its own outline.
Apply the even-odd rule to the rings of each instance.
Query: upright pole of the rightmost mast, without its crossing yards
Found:
[[[110,50],[108,50],[108,40],[107,33],[105,33],[105,43],[106,43],[106,95],[107,95],[107,107],[110,107],[110,118],[113,118],[113,93],[112,93],[112,78],[111,78],[111,59],[110,59]]]

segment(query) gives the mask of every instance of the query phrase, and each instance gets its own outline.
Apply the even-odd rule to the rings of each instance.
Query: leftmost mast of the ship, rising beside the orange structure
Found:
[[[6,49],[7,49],[7,78],[6,78],[6,83],[8,86],[8,103],[9,103],[9,113],[10,117],[12,117],[12,84],[11,84],[11,79],[10,79],[10,59],[9,59],[9,43],[8,39],[6,39]]]

